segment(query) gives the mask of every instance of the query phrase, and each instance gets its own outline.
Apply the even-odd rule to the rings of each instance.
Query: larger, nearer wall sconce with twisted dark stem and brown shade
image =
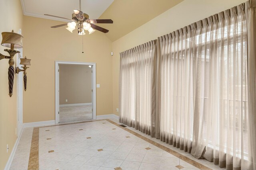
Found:
[[[16,51],[14,49],[22,48],[22,38],[23,36],[12,32],[2,32],[2,43],[1,45],[4,47],[8,47],[10,49],[4,49],[4,51],[8,52],[10,56],[5,56],[0,53],[0,60],[9,59],[9,68],[8,68],[8,81],[9,81],[9,96],[12,97],[12,88],[14,81],[14,55],[20,53],[20,51]]]

